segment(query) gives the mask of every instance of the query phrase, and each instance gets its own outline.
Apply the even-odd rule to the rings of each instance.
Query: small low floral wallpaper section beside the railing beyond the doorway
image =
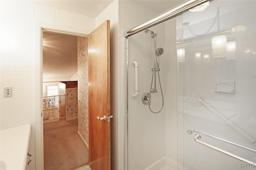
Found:
[[[66,90],[67,113],[66,120],[78,117],[78,94],[77,88]]]

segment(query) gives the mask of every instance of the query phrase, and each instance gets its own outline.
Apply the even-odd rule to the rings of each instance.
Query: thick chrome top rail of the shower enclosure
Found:
[[[186,10],[194,8],[195,6],[198,6],[207,1],[209,1],[209,0],[186,0],[185,2],[182,2],[182,3],[178,4],[177,6],[170,8],[169,10],[166,10],[165,12],[162,12],[161,14],[158,14],[154,18],[151,18],[150,20],[147,20],[147,21],[141,23],[140,25],[137,25],[136,27],[133,27],[133,28],[125,31],[123,33],[123,35],[124,35],[124,37],[134,35],[140,31],[143,31],[143,30],[150,28],[154,25],[157,25],[164,21],[170,20],[170,19],[182,14],[182,12],[185,12]]]

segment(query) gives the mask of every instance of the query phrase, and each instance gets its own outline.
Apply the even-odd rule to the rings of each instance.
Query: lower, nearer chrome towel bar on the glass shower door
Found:
[[[200,141],[199,139],[201,139],[201,136],[198,135],[198,134],[196,134],[195,137],[194,137],[194,141],[196,141],[197,143],[200,143],[200,144],[202,144],[202,145],[204,145],[204,146],[206,146],[206,147],[209,147],[209,148],[211,148],[211,149],[214,149],[214,150],[217,150],[217,151],[219,151],[219,152],[221,152],[221,153],[224,153],[224,154],[226,154],[226,155],[228,155],[228,156],[231,156],[231,157],[233,157],[233,158],[236,158],[236,159],[238,159],[238,160],[241,160],[242,162],[245,162],[245,163],[248,163],[248,164],[252,164],[252,165],[256,165],[255,162],[252,162],[252,161],[250,161],[250,160],[247,160],[247,159],[245,159],[245,158],[242,158],[242,157],[240,157],[240,156],[238,156],[238,155],[236,155],[236,154],[232,154],[232,153],[230,153],[230,152],[228,152],[228,151],[226,151],[226,150],[220,149],[220,148],[218,148],[218,147],[214,147],[214,146],[212,146],[212,145],[210,145],[210,144],[208,144],[208,143],[205,143],[205,142],[203,142],[203,141]]]

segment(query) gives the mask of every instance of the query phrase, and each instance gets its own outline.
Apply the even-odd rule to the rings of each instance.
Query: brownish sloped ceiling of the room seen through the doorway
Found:
[[[77,72],[77,37],[43,32],[43,81],[67,81]]]

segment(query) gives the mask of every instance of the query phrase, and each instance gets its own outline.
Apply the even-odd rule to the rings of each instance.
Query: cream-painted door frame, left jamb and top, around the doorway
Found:
[[[43,29],[56,33],[64,33],[80,37],[87,37],[90,32],[82,32],[72,27],[48,24],[37,21],[35,24],[35,147],[36,147],[36,169],[44,169],[44,133],[42,121],[42,37]]]

